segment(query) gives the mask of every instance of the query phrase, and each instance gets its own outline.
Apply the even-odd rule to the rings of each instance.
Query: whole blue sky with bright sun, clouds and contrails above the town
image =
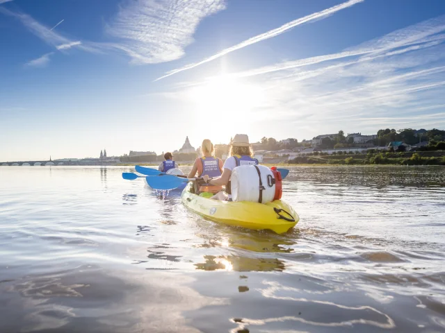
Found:
[[[0,0],[0,161],[445,129],[443,0]]]

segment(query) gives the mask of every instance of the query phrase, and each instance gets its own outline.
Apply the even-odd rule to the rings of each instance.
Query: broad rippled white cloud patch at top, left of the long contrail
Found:
[[[184,56],[202,19],[223,9],[224,0],[128,0],[106,31],[132,62],[167,62]]]

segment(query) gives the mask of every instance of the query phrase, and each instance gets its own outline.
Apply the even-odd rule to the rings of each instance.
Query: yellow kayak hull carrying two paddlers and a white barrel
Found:
[[[282,200],[266,204],[213,200],[191,193],[192,187],[189,182],[182,191],[182,203],[211,221],[253,230],[268,229],[282,234],[293,228],[300,219],[293,208]]]

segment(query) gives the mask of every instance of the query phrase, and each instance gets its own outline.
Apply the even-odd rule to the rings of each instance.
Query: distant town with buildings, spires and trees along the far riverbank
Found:
[[[286,162],[296,157],[309,155],[363,154],[367,151],[437,151],[445,150],[445,130],[403,130],[382,129],[376,134],[343,133],[339,130],[334,134],[322,134],[298,142],[288,138],[277,141],[273,137],[263,137],[252,144],[254,157],[260,162]],[[191,145],[188,137],[184,144],[172,152],[178,162],[193,162],[200,155],[200,147]],[[229,144],[216,144],[215,155],[225,160],[229,153]],[[2,166],[62,166],[62,165],[119,165],[156,163],[163,160],[163,153],[154,151],[129,151],[122,156],[108,156],[106,149],[98,153],[98,157],[62,158],[52,160],[31,160],[16,162],[0,162]]]

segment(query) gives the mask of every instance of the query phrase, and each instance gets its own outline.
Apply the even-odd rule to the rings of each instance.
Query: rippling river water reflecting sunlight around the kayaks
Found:
[[[0,167],[0,332],[445,332],[445,169],[296,167],[290,232],[129,167]]]

